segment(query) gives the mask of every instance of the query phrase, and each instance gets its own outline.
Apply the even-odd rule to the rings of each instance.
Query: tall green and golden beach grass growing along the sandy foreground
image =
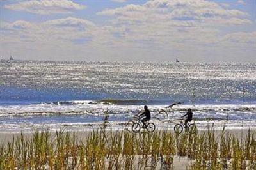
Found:
[[[195,134],[170,130],[134,134],[101,128],[86,137],[60,130],[20,134],[0,146],[0,169],[256,169],[255,132],[238,137],[209,128]]]

